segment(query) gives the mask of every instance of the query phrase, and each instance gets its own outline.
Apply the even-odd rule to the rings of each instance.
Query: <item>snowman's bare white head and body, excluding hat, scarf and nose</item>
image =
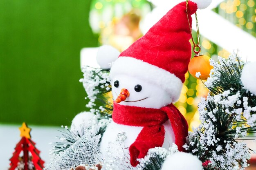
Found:
[[[141,86],[141,91],[135,91],[136,85]],[[139,79],[137,77],[132,77],[124,74],[119,74],[112,77],[113,100],[118,97],[122,88],[126,88],[129,91],[130,96],[126,98],[127,102],[123,101],[119,103],[121,105],[159,109],[173,102],[172,97],[167,94],[163,88],[155,84],[151,84],[144,79]],[[175,137],[170,121],[166,121],[163,125],[165,130],[165,136],[164,144],[162,147],[168,149],[175,142]],[[125,141],[125,146],[129,147],[137,139],[142,128],[142,126],[127,126],[117,124],[114,121],[111,122],[107,126],[106,131],[104,132],[101,139],[100,150],[103,153],[103,157],[105,157],[108,152],[107,148],[109,143],[115,141],[118,133],[126,133],[127,139]]]

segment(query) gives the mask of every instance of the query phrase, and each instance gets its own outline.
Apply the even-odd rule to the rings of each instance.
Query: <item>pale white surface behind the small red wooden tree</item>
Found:
[[[9,159],[12,157],[16,144],[20,141],[20,125],[3,125],[0,124],[0,170],[8,170]],[[50,142],[56,141],[56,136],[60,136],[60,127],[34,126],[31,128],[31,139],[36,143],[36,148],[40,150],[40,157],[46,163],[49,163]]]

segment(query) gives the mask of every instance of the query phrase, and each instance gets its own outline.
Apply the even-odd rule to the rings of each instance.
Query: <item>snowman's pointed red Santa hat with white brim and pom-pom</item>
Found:
[[[128,74],[164,88],[176,102],[191,58],[191,15],[211,0],[189,0],[168,11],[150,30],[122,52],[112,65],[111,77]],[[189,18],[189,21],[188,21]]]

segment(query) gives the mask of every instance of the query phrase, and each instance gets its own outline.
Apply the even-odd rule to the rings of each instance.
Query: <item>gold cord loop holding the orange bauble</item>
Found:
[[[186,0],[186,16],[187,16],[188,22],[189,22],[189,9],[188,9],[188,6],[189,6],[189,0]],[[195,12],[195,23],[196,23],[196,35],[197,35],[198,43],[195,43],[195,41],[194,41],[190,22],[189,22],[189,29],[190,29],[191,40],[192,40],[193,45],[194,45],[193,51],[196,54],[195,56],[198,56],[198,55],[201,55],[200,54],[201,46],[200,46],[200,32],[199,32],[199,26],[198,26],[198,16],[197,16],[196,12]],[[197,48],[198,48],[198,51],[196,50]]]

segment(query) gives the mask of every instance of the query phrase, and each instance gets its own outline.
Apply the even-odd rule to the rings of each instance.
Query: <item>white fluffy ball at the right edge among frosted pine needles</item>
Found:
[[[256,62],[247,63],[243,67],[241,81],[243,86],[256,95]]]

